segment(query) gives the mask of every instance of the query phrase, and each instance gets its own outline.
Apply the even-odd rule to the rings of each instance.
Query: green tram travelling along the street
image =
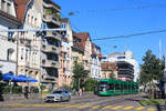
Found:
[[[133,81],[121,81],[115,79],[101,79],[95,93],[98,95],[120,95],[138,93],[138,84]]]

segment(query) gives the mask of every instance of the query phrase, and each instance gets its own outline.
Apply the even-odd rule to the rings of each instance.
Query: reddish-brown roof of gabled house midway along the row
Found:
[[[83,49],[85,49],[85,42],[87,41],[87,38],[90,38],[90,33],[89,32],[80,32],[80,33],[73,33],[73,34],[81,39],[81,47]],[[90,40],[91,40],[91,38],[90,38]]]

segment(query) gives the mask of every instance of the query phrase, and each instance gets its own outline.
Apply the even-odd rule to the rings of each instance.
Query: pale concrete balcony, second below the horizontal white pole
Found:
[[[42,47],[42,51],[59,54],[60,53],[60,48],[58,48],[55,46],[52,46],[52,44],[48,44],[48,46]]]

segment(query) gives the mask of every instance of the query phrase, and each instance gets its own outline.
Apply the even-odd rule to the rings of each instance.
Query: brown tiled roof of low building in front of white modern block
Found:
[[[117,70],[117,65],[115,62],[102,62],[101,67],[102,67],[102,71]]]

